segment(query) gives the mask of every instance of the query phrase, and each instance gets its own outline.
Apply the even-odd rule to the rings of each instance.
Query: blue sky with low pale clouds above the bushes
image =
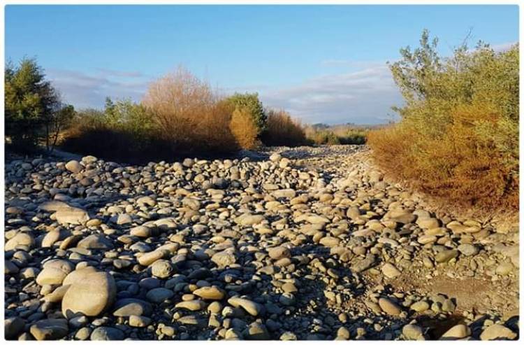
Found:
[[[36,57],[64,101],[139,101],[184,65],[224,93],[259,92],[303,122],[380,123],[400,104],[386,62],[427,28],[442,54],[472,29],[518,41],[517,6],[6,6],[6,59]]]

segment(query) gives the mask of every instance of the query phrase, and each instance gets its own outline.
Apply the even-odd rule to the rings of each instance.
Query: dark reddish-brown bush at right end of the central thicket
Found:
[[[303,126],[283,110],[268,111],[267,129],[262,140],[268,146],[300,146],[307,143]]]

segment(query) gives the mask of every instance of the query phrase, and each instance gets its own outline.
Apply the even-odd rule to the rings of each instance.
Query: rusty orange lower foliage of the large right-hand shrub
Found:
[[[455,204],[518,209],[518,174],[486,135],[504,131],[500,120],[489,104],[461,105],[442,136],[406,121],[370,132],[368,143],[379,165],[423,192]]]

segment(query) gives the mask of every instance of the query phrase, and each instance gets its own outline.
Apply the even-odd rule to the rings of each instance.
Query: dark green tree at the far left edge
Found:
[[[35,59],[8,62],[5,71],[6,137],[16,148],[33,148],[59,107],[59,95]]]

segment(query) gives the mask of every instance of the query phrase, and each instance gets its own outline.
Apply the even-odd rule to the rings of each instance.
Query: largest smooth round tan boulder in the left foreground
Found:
[[[62,314],[71,317],[75,313],[98,316],[115,302],[117,286],[107,272],[88,272],[83,279],[75,281],[62,300]]]

